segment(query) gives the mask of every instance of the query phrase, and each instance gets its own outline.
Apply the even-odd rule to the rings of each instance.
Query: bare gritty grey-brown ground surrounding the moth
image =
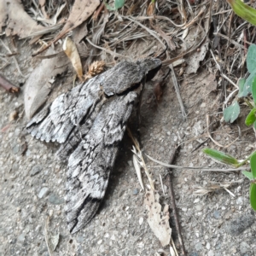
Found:
[[[21,71],[29,75],[35,64],[30,67],[32,62],[25,61],[31,49],[24,45],[18,45],[24,55],[17,58]],[[14,63],[6,67],[3,74],[15,84],[23,84],[26,80],[17,73]],[[72,88],[72,70],[66,74],[66,79],[62,85],[56,82],[54,95]],[[175,160],[177,166],[226,168],[201,152],[205,147],[220,149],[207,140],[207,114],[210,114],[213,137],[223,145],[239,137],[240,125],[241,137],[229,148],[221,149],[245,159],[254,148],[253,130],[246,130],[244,117],[234,125],[219,122],[219,92],[215,90],[213,74],[202,65],[198,73],[183,79],[180,84],[187,119],[181,114],[171,76],[160,102],[154,97],[154,82],[147,84],[141,109],[143,151],[154,159],[168,162],[173,148],[182,143]],[[53,255],[170,255],[169,248],[162,248],[148,227],[143,207],[144,192],[132,165],[132,143],[127,134],[96,218],[71,236],[64,210],[67,167],[55,160],[58,146],[38,142],[26,133],[28,120],[24,115],[22,87],[19,95],[10,95],[1,89],[0,99],[1,255],[49,255],[45,229],[49,236],[60,234]],[[19,118],[10,122],[9,115],[14,110]],[[134,125],[134,119],[130,125]],[[147,166],[153,173],[161,201],[170,203],[168,193],[163,195],[160,189],[161,175],[168,191],[166,168],[150,160]],[[144,173],[143,180],[147,183]],[[195,186],[231,182],[239,182],[229,188],[234,196],[224,189],[208,195],[193,195]],[[255,255],[255,214],[248,200],[249,182],[241,172],[173,170],[172,183],[188,255]],[[179,251],[175,229],[172,237]]]

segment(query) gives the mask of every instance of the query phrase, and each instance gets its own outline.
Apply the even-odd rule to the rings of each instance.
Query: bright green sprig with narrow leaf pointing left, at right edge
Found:
[[[242,160],[240,162],[230,154],[225,154],[224,152],[212,148],[204,148],[202,151],[214,160],[218,160],[224,164],[234,166],[236,168],[243,166],[250,161],[252,172],[242,171],[241,173],[251,181],[249,190],[250,203],[253,210],[256,211],[256,152],[253,152],[253,154],[250,154],[246,160]]]

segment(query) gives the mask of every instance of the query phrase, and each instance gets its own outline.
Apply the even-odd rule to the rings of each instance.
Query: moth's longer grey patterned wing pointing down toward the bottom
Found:
[[[136,97],[137,93],[129,92],[105,103],[69,157],[66,211],[72,234],[88,224],[100,206]]]

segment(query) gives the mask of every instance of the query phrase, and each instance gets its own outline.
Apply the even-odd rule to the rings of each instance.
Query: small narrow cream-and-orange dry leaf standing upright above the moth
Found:
[[[73,43],[71,38],[65,38],[62,48],[65,51],[69,60],[71,61],[74,70],[78,74],[79,80],[81,82],[84,81],[82,63],[76,44]]]

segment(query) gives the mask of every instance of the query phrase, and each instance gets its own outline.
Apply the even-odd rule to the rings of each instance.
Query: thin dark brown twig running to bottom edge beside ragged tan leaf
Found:
[[[170,157],[170,164],[172,165],[172,162],[174,160],[176,154],[176,148],[172,151],[172,155]],[[173,191],[173,187],[172,187],[172,177],[171,177],[171,172],[172,169],[168,168],[167,169],[167,179],[168,179],[168,183],[169,183],[169,192],[170,192],[170,199],[171,199],[171,204],[172,204],[172,211],[173,211],[173,217],[174,217],[174,222],[175,222],[175,226],[176,226],[176,230],[177,230],[177,238],[178,241],[180,243],[181,249],[182,249],[182,253],[183,256],[186,256],[186,250],[184,247],[184,243],[183,243],[183,236],[181,234],[181,230],[180,230],[180,226],[179,226],[179,222],[178,222],[178,218],[177,218],[177,208],[176,208],[176,203],[175,203],[175,195],[174,195],[174,191]]]

